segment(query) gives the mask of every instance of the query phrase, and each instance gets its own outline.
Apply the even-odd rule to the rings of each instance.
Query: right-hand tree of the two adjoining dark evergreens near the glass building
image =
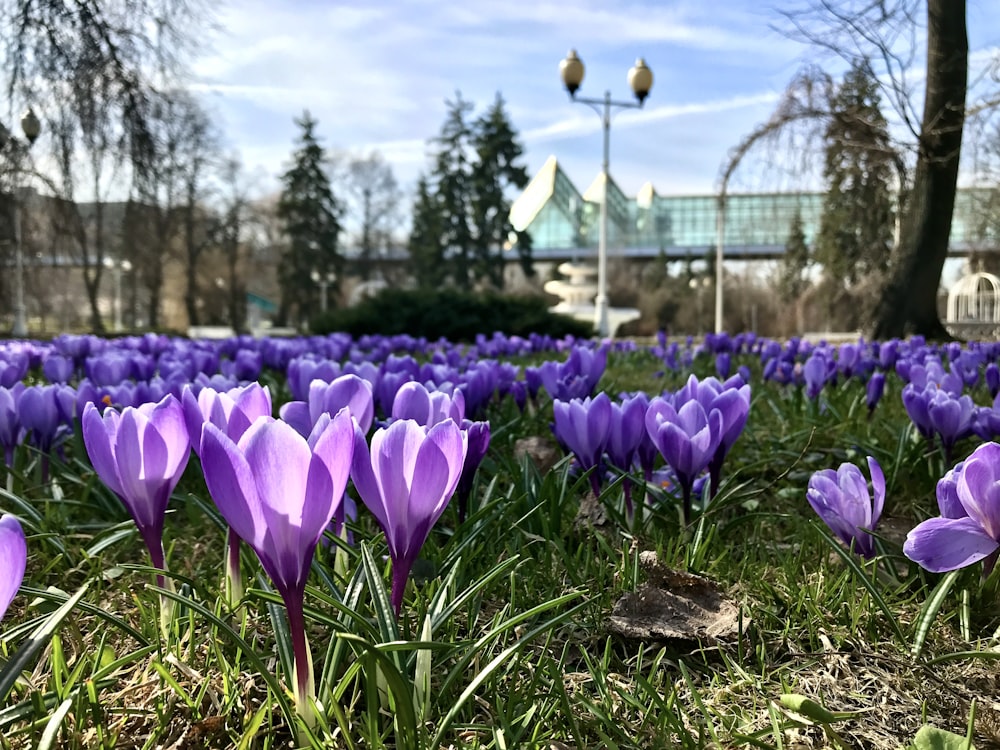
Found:
[[[476,163],[472,170],[473,220],[476,227],[476,276],[488,279],[497,289],[504,285],[504,248],[512,243],[526,276],[534,274],[531,237],[517,232],[510,223],[507,191],[528,184],[528,170],[516,163],[524,153],[517,132],[507,116],[503,96],[475,123],[473,145]]]

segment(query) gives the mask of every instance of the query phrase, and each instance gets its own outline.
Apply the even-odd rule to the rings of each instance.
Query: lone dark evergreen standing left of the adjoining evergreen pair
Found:
[[[337,248],[341,207],[330,187],[326,150],[315,132],[317,122],[306,111],[295,124],[302,132],[292,166],[281,176],[278,200],[278,218],[288,238],[279,271],[279,318],[301,325],[319,310],[313,272],[337,275],[331,295],[335,299],[344,258]]]

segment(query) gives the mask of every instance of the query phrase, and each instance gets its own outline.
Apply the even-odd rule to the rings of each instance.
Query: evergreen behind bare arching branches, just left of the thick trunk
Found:
[[[828,281],[853,285],[883,273],[893,234],[893,149],[867,62],[844,77],[824,134],[823,204],[815,257]]]

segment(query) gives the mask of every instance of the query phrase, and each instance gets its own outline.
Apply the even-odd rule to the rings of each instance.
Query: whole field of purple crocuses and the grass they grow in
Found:
[[[0,343],[0,747],[1000,744],[1000,344]]]

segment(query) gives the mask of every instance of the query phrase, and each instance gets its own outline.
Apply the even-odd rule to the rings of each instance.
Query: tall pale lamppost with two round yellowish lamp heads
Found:
[[[583,83],[583,73],[583,61],[577,57],[576,50],[570,50],[566,59],[559,63],[559,74],[562,76],[563,84],[574,102],[586,104],[597,112],[604,129],[604,158],[601,162],[604,194],[601,196],[601,218],[597,241],[597,297],[594,300],[594,328],[597,330],[597,335],[603,338],[608,336],[610,332],[608,325],[608,180],[610,179],[608,162],[611,109],[613,107],[640,109],[646,101],[646,97],[649,96],[649,90],[653,87],[653,71],[640,57],[628,72],[628,85],[631,87],[632,93],[635,94],[635,98],[638,99],[638,103],[612,101],[610,91],[605,91],[602,99],[577,96],[577,89]]]

